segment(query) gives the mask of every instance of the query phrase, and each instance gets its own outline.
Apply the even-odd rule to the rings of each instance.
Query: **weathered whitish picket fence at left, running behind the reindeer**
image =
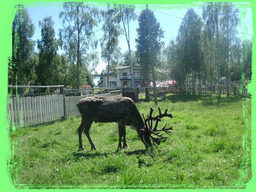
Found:
[[[85,97],[65,97],[65,117],[80,115],[76,103]],[[110,93],[97,95],[111,97]],[[122,94],[114,97],[122,97]],[[10,130],[46,123],[64,117],[63,95],[51,95],[40,97],[14,97],[7,99],[7,120]]]

